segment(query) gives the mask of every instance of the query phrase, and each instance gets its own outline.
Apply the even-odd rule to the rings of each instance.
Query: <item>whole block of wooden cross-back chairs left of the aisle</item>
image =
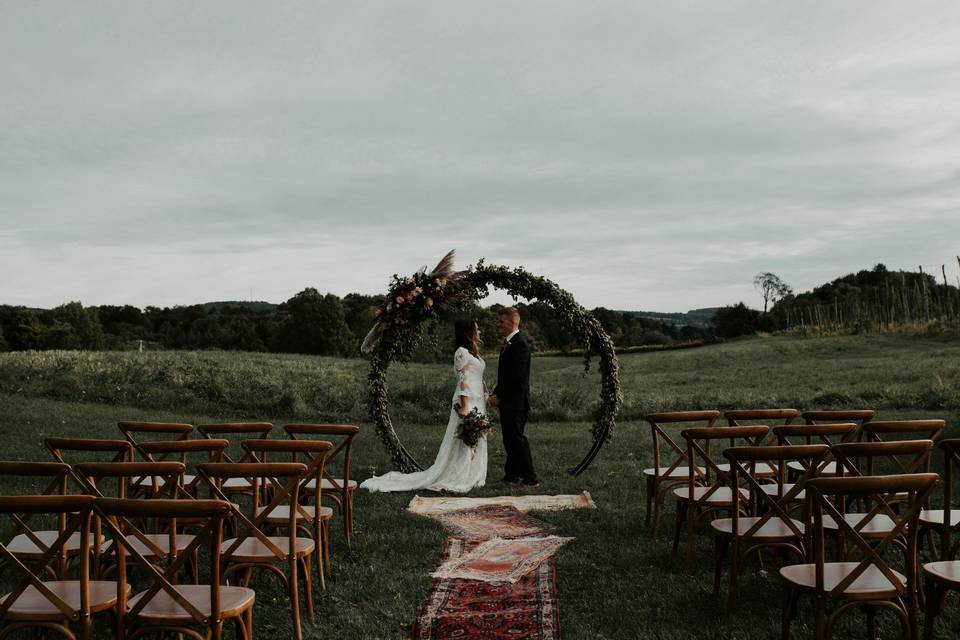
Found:
[[[193,431],[190,425],[121,423],[120,428],[124,440],[47,439],[45,444],[57,462],[0,464],[0,475],[45,480],[33,496],[6,496],[10,498],[8,515],[14,527],[0,544],[0,564],[15,566],[23,580],[0,601],[0,621],[5,625],[0,629],[0,636],[20,626],[61,630],[73,621],[86,637],[89,625],[84,620],[97,611],[111,610],[123,620],[118,622],[118,635],[135,624],[139,629],[132,631],[130,637],[166,627],[175,627],[177,633],[189,637],[219,637],[222,620],[233,617],[237,621],[237,637],[252,637],[253,596],[248,602],[244,594],[249,590],[237,591],[234,587],[218,585],[239,580],[246,588],[253,569],[266,569],[280,579],[290,598],[294,636],[300,638],[298,582],[304,583],[307,613],[312,619],[314,555],[320,585],[324,588],[324,565],[327,571],[330,568],[328,523],[333,510],[321,505],[327,494],[331,494],[340,508],[348,542],[353,528],[352,498],[356,483],[349,478],[349,462],[352,439],[358,429],[351,425],[287,425],[285,431],[289,439],[270,440],[267,434],[272,425],[233,423],[203,425],[197,429],[203,437],[189,440],[187,437]],[[340,441],[334,444],[327,440],[303,439],[323,433],[330,433]],[[172,434],[173,439],[141,441],[144,434],[151,434],[150,437]],[[244,438],[251,434],[256,437],[240,442],[242,453],[236,455],[236,460],[228,453],[231,443],[216,437],[239,435]],[[134,461],[137,453],[144,462]],[[193,455],[202,459],[195,473],[188,474],[186,463]],[[337,455],[341,456],[342,465],[341,473],[335,476],[326,463]],[[268,456],[289,456],[291,462],[270,462]],[[106,460],[90,461],[96,457],[106,457]],[[32,528],[29,523],[34,512],[41,507],[52,509],[52,499],[67,499],[64,504],[69,505],[73,498],[83,497],[69,495],[71,479],[94,501],[116,502],[104,503],[106,506],[101,505],[99,510],[91,506],[94,516],[89,527],[77,525],[69,517],[75,510],[61,510],[56,515],[54,528]],[[111,480],[116,482],[115,488],[108,487]],[[204,491],[209,499],[200,499]],[[238,504],[244,495],[248,499],[245,500],[252,503],[248,514]],[[308,499],[303,500],[302,496]],[[39,502],[30,507],[34,497]],[[309,499],[312,505],[307,504]],[[208,503],[220,504],[214,507]],[[18,504],[27,505],[26,511],[16,512]],[[202,504],[212,511],[203,511],[206,507]],[[226,511],[218,515],[224,505]],[[168,511],[163,510],[167,508]],[[109,514],[114,517],[112,523],[105,519],[105,510],[109,509],[114,510]],[[199,511],[191,515],[191,509]],[[154,522],[151,527],[145,527],[143,521],[149,518]],[[162,518],[168,522],[161,523]],[[68,522],[74,525],[68,526]],[[224,526],[233,534],[226,542],[222,542]],[[198,534],[193,533],[197,528],[203,531],[201,537],[218,540],[215,547],[218,553],[211,553],[209,589],[226,589],[228,604],[232,603],[226,608],[221,606],[227,602],[222,593],[214,597],[211,590],[209,599],[203,600],[196,592],[202,573]],[[276,535],[283,530],[285,536]],[[119,533],[123,534],[123,541],[118,542],[116,537],[107,539],[110,534]],[[123,549],[137,566],[146,567],[155,580],[143,592],[147,595],[137,600],[149,600],[149,605],[135,607],[133,600],[127,601],[130,588]],[[166,570],[161,570],[161,565],[165,565]],[[285,566],[286,571],[278,565]],[[173,586],[182,568],[188,568],[193,577],[194,586],[189,589]],[[73,581],[67,580],[68,572],[79,575]],[[105,581],[110,576],[114,580]],[[51,590],[43,586],[43,577],[54,578],[51,584],[60,585],[65,591],[58,596],[58,587]],[[94,585],[92,591],[84,586],[85,582]],[[106,597],[111,591],[110,585],[116,586],[112,599]],[[97,598],[91,600],[91,593]],[[86,597],[83,594],[87,594]],[[72,603],[73,608],[65,608],[65,602]],[[206,603],[206,608],[198,608],[198,602]],[[191,622],[204,627],[205,635],[188,633],[184,625]]]

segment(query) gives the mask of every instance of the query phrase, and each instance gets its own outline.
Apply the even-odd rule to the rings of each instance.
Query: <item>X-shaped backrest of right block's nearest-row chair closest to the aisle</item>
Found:
[[[867,570],[876,568],[903,598],[915,598],[917,584],[917,531],[920,510],[937,482],[935,473],[906,474],[898,476],[860,476],[814,478],[807,482],[807,509],[813,515],[813,526],[808,530],[808,548],[813,550],[816,573],[816,591],[820,594],[841,596]],[[870,500],[875,496],[907,494],[906,508],[902,513],[893,513],[893,526],[882,538],[865,539],[859,527],[843,517],[843,504],[850,499]],[[881,500],[882,501],[882,500]],[[848,561],[860,556],[852,571],[847,573],[829,591],[825,584],[826,552],[824,545],[824,519],[829,517],[839,528],[841,538],[840,560]],[[906,540],[903,570],[906,581],[900,579],[890,564],[883,558],[884,551],[894,543]],[[852,543],[852,544],[851,544]],[[844,551],[849,545],[850,552]]]

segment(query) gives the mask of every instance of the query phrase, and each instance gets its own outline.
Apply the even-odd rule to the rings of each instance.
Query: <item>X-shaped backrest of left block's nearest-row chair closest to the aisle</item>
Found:
[[[230,513],[230,503],[220,500],[168,500],[168,499],[117,499],[97,498],[94,502],[95,512],[105,520],[110,537],[117,554],[117,610],[124,619],[121,627],[125,627],[129,620],[134,620],[143,611],[155,595],[163,591],[175,600],[180,607],[198,625],[204,627],[215,625],[221,620],[220,616],[220,546],[223,541],[223,520]],[[199,529],[192,534],[191,540],[181,551],[157,557],[145,558],[128,531],[136,531],[141,541],[147,539],[146,534],[140,531],[133,523],[152,520],[167,520],[164,527],[169,537],[170,550],[182,547],[177,543],[178,518],[188,519],[192,523],[201,523]],[[177,574],[184,564],[198,551],[204,542],[209,543],[210,552],[210,607],[211,616],[208,618],[189,599],[184,597],[176,588]],[[156,545],[152,545],[156,547]],[[153,548],[152,552],[159,549]],[[126,603],[127,584],[127,555],[133,557],[137,565],[146,572],[145,592],[133,606]],[[157,558],[165,560],[165,566],[157,566]],[[199,637],[199,636],[198,636]]]

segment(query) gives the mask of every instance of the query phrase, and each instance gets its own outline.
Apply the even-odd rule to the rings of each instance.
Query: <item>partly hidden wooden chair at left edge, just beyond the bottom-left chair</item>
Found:
[[[0,462],[0,476],[8,481],[17,479],[32,485],[26,492],[28,495],[65,496],[69,492],[71,471],[69,465],[61,462]],[[40,559],[46,557],[49,545],[60,537],[67,518],[61,513],[56,519],[56,528],[35,530],[29,526],[33,515],[28,513],[22,523],[14,521],[13,529],[4,538],[0,538],[0,541],[11,554],[24,562],[35,565],[38,570],[54,577],[62,578],[66,575],[71,560],[81,555],[80,550],[85,548],[80,543],[80,534],[75,533],[67,539],[59,553],[53,557],[53,563],[38,565]],[[3,562],[0,561],[0,567],[2,566]]]

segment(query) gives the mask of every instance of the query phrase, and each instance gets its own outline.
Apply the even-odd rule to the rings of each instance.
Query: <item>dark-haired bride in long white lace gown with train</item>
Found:
[[[480,328],[472,320],[457,320],[454,325],[456,351],[453,354],[453,373],[457,385],[453,393],[453,408],[447,431],[443,434],[440,451],[433,465],[424,471],[400,473],[391,471],[382,476],[365,480],[360,486],[370,491],[451,491],[466,493],[474,487],[482,487],[487,479],[487,439],[480,438],[475,447],[470,447],[457,438],[460,418],[474,408],[486,414],[486,387],[483,370],[486,367],[480,357],[478,344]]]

